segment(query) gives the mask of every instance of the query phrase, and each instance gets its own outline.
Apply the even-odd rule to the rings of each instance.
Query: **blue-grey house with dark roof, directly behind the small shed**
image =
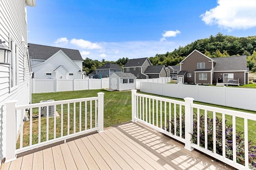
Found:
[[[118,64],[106,63],[96,69],[96,78],[108,78],[114,72],[122,72]]]

